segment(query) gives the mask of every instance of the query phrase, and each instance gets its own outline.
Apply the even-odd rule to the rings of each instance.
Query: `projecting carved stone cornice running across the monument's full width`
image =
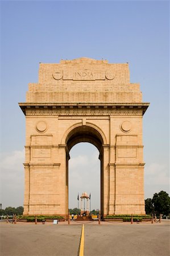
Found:
[[[55,116],[117,116],[143,115],[149,104],[115,104],[115,105],[43,105],[20,103],[19,106],[27,116],[55,115]]]

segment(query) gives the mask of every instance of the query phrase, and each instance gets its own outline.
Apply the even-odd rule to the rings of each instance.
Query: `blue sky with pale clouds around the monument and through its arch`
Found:
[[[131,82],[140,82],[143,101],[151,102],[143,118],[145,195],[147,198],[160,190],[168,192],[168,16],[168,1],[1,1],[4,206],[23,204],[25,125],[18,102],[25,101],[28,82],[38,81],[39,62],[59,63],[60,59],[77,57],[129,63]],[[93,146],[90,148],[88,144],[78,144],[71,151],[71,207],[77,205],[74,193],[79,190],[81,193],[81,189],[71,184],[72,174],[82,168],[81,162],[90,163],[90,154],[84,152],[97,154]],[[73,164],[75,159],[80,160],[77,167]],[[97,165],[95,170],[96,176],[99,175]],[[98,181],[97,184],[95,189],[88,187],[87,192],[93,191],[94,195],[99,191]],[[98,194],[92,201],[93,208],[99,208]]]

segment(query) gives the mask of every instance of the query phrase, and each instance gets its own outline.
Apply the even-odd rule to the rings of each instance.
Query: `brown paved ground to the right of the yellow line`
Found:
[[[85,256],[168,256],[169,225],[85,226]]]

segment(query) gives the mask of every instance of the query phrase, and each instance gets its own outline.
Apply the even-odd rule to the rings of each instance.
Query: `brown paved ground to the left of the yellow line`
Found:
[[[77,256],[81,225],[0,224],[0,228],[1,256]]]

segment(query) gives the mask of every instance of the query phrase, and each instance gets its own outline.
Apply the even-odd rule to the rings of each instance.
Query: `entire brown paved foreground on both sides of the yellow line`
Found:
[[[85,225],[85,256],[168,256],[170,221]],[[82,225],[0,223],[1,256],[77,256]]]

